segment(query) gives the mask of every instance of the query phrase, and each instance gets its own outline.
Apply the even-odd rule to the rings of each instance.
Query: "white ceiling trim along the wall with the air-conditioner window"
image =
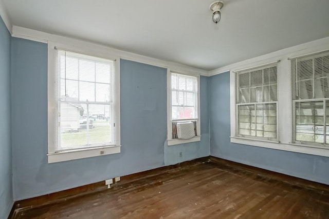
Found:
[[[108,46],[104,46],[101,44],[96,44],[93,42],[82,41],[80,39],[69,38],[60,35],[54,35],[50,33],[45,33],[41,31],[36,31],[24,27],[13,26],[12,27],[12,36],[17,38],[30,39],[32,41],[48,43],[56,42],[65,44],[72,47],[84,47],[87,48],[91,53],[95,53],[97,51],[104,51],[108,54],[108,56],[112,57],[120,57],[122,59],[127,59],[139,63],[144,63],[152,66],[158,66],[162,68],[170,68],[173,71],[182,72],[186,74],[195,75],[204,75],[208,76],[208,71],[203,69],[194,68],[188,65],[183,65],[179,63],[163,61],[157,58],[152,58],[144,55],[135,54],[132,52],[127,52],[119,49],[114,49]]]

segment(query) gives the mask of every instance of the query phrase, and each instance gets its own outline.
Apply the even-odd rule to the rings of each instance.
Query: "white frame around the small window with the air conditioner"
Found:
[[[173,139],[172,138],[172,84],[171,84],[171,75],[172,73],[175,74],[183,74],[187,76],[193,76],[196,77],[196,83],[197,83],[197,122],[196,122],[196,133],[197,135],[190,138],[190,139]],[[201,130],[200,130],[200,75],[195,75],[195,74],[187,74],[187,73],[181,73],[181,72],[176,72],[176,71],[171,71],[169,68],[167,70],[167,143],[168,146],[172,145],[178,145],[178,144],[185,144],[185,143],[191,143],[191,142],[199,142],[201,141]],[[187,120],[182,120],[182,121],[187,121]],[[192,119],[191,121],[195,121],[195,119]],[[177,122],[177,120],[175,120]]]

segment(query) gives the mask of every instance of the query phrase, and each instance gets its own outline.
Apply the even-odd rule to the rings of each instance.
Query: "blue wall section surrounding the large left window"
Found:
[[[12,38],[12,63],[15,200],[165,165],[167,69],[121,59],[120,154],[48,164],[47,45]]]

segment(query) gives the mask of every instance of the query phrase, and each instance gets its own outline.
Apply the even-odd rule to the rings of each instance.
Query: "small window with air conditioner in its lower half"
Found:
[[[168,145],[200,141],[198,77],[170,72]]]

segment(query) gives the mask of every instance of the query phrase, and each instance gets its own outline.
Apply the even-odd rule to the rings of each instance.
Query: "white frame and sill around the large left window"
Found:
[[[60,48],[71,52],[103,57],[108,59],[115,59],[116,76],[115,76],[115,136],[114,145],[100,146],[93,148],[81,148],[76,150],[67,150],[56,152],[56,99],[57,99],[57,72],[56,72],[56,49]],[[80,158],[101,156],[107,154],[114,154],[121,152],[120,140],[120,57],[110,57],[106,51],[95,51],[88,47],[75,47],[64,45],[60,43],[48,42],[48,163],[56,163],[70,160],[77,160]]]

